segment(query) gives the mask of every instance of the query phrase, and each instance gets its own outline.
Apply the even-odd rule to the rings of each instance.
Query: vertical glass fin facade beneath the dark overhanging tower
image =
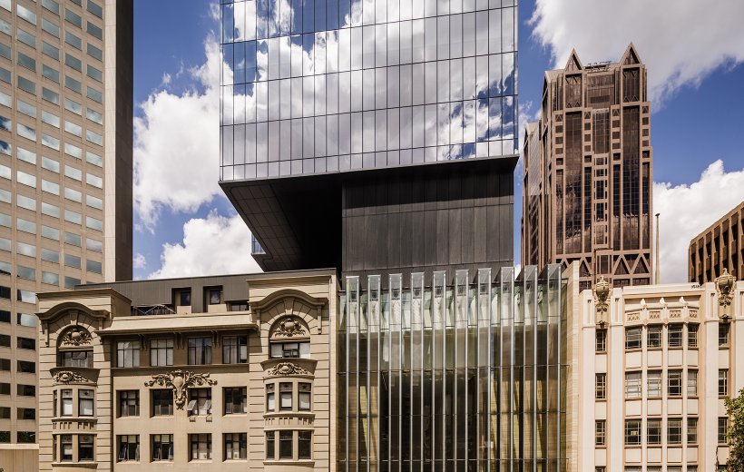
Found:
[[[338,470],[565,470],[560,266],[424,276],[346,279]]]

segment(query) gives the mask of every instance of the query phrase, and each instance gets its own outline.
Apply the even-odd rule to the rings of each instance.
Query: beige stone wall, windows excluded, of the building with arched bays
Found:
[[[144,282],[146,283],[146,282]],[[40,348],[40,462],[41,470],[79,470],[79,465],[53,461],[54,434],[74,432],[92,433],[95,440],[97,470],[142,470],[153,467],[152,436],[173,435],[173,460],[158,464],[171,470],[220,470],[230,472],[250,469],[329,470],[335,461],[336,439],[333,434],[336,407],[333,357],[335,356],[335,313],[337,282],[335,277],[306,276],[260,279],[251,276],[247,292],[250,294],[250,316],[245,312],[227,311],[210,307],[209,313],[138,317],[137,329],[130,329],[130,300],[114,290],[76,290],[43,295],[40,300],[42,324]],[[111,316],[110,316],[111,315]],[[237,320],[250,319],[248,324],[230,324],[230,316]],[[171,329],[162,320],[170,321]],[[287,321],[291,321],[289,325]],[[124,321],[124,322],[122,322]],[[211,321],[211,324],[210,324]],[[285,326],[299,327],[295,331]],[[57,368],[60,337],[73,326],[91,333],[93,369]],[[248,362],[223,364],[222,339],[227,335],[248,337]],[[212,339],[212,363],[188,365],[188,339]],[[174,339],[173,365],[150,366],[149,341],[157,338]],[[119,340],[139,340],[140,367],[116,366],[116,343]],[[307,340],[309,359],[270,359],[271,341]],[[291,369],[280,369],[287,364]],[[152,389],[172,388],[172,385],[146,386],[153,376],[173,375],[176,369],[203,374],[212,385],[210,414],[190,416],[187,407],[174,405],[172,416],[152,416]],[[53,375],[70,370],[91,382],[76,379],[67,385],[55,382]],[[267,412],[266,384],[292,383],[293,410]],[[311,388],[311,408],[298,411],[297,384],[308,382]],[[175,383],[175,380],[174,380]],[[188,387],[188,385],[187,385]],[[225,414],[224,388],[247,388],[247,413]],[[73,388],[73,408],[77,408],[77,389],[95,389],[93,418],[53,418],[54,391]],[[139,416],[122,417],[118,411],[118,392],[139,391]],[[277,392],[277,401],[279,401]],[[58,394],[59,395],[59,394]],[[188,400],[187,400],[188,403]],[[74,410],[73,410],[74,411]],[[297,457],[298,435],[294,433],[294,460],[267,460],[266,431],[311,430],[312,456],[309,460]],[[225,460],[225,433],[247,433],[248,457]],[[191,460],[191,434],[211,435],[211,458]],[[118,462],[117,438],[139,435],[140,460]],[[59,446],[57,446],[59,447]],[[77,447],[73,444],[73,460]],[[59,457],[58,457],[59,458]]]

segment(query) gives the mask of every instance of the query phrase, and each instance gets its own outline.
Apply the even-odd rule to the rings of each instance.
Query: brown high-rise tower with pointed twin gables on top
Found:
[[[572,52],[547,71],[524,140],[522,263],[578,261],[582,288],[651,283],[651,103],[631,44],[618,63]]]

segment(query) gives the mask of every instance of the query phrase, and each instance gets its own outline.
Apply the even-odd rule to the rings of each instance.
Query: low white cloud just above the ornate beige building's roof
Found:
[[[250,255],[250,231],[240,216],[221,216],[216,210],[207,218],[183,225],[183,241],[162,245],[162,266],[150,279],[260,272]]]

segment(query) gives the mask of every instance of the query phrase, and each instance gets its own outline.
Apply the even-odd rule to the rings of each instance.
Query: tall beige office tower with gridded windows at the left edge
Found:
[[[36,441],[35,294],[131,279],[131,231],[132,2],[0,1],[5,470],[32,461],[3,443]]]

